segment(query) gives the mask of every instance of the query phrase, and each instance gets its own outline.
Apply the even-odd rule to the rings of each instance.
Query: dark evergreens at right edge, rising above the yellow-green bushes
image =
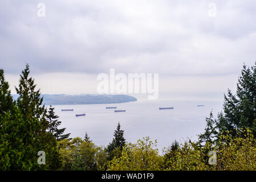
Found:
[[[208,141],[213,135],[218,139],[226,131],[234,137],[237,131],[246,127],[256,136],[256,62],[253,67],[243,65],[236,93],[228,89],[224,94],[223,111],[218,113],[215,121],[211,118],[206,118],[208,126],[201,134],[201,141]]]

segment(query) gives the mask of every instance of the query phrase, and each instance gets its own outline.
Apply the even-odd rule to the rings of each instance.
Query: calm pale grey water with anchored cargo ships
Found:
[[[56,105],[55,113],[66,127],[71,138],[90,136],[98,146],[107,146],[113,138],[113,131],[120,122],[124,137],[128,142],[136,142],[143,137],[157,139],[159,149],[168,147],[175,139],[197,139],[204,131],[205,117],[213,109],[214,116],[221,110],[222,101],[137,101],[123,104],[97,105]],[[197,107],[197,105],[205,105]],[[125,113],[115,113],[115,109],[105,106],[117,106]],[[159,110],[159,107],[174,106],[173,110]],[[74,109],[74,111],[61,111]],[[86,113],[85,117],[75,114]]]

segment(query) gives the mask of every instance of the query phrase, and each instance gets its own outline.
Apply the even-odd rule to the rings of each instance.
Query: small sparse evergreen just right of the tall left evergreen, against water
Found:
[[[54,107],[52,107],[50,105],[50,107],[48,109],[48,113],[46,114],[46,119],[48,121],[48,131],[52,135],[54,135],[54,137],[58,141],[60,141],[60,140],[67,139],[68,137],[70,137],[70,133],[63,135],[66,128],[58,129],[59,125],[62,123],[61,121],[58,120],[58,118],[59,118],[59,116],[55,115]]]

